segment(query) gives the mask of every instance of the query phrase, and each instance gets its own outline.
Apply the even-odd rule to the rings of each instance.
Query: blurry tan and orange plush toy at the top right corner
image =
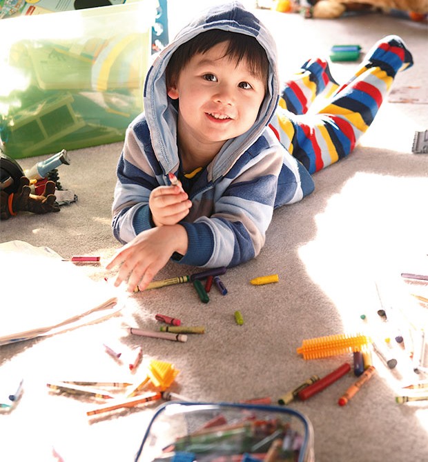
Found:
[[[424,21],[428,14],[427,0],[311,0],[311,17],[332,19],[345,12],[380,10],[385,13]]]

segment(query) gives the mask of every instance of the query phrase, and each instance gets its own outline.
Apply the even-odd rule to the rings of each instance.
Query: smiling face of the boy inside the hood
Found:
[[[224,141],[249,130],[264,99],[265,82],[249,71],[246,60],[225,57],[228,43],[195,54],[180,72],[168,96],[179,99],[179,138],[213,154]]]

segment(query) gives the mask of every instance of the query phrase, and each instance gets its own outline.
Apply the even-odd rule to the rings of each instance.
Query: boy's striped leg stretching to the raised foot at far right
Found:
[[[305,115],[307,108],[302,106],[300,114],[295,114],[289,103],[293,98],[287,95],[285,103],[280,103],[273,128],[309,172],[327,167],[353,150],[376,116],[396,73],[412,64],[402,39],[396,35],[385,37],[367,54],[356,74],[335,91],[327,106],[313,115]]]

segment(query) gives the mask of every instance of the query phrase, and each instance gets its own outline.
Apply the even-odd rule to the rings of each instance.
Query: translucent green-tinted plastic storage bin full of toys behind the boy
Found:
[[[21,159],[124,139],[143,110],[157,2],[0,23],[0,139]]]

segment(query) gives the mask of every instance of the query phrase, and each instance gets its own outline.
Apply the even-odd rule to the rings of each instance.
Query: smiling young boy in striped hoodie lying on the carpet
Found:
[[[237,2],[208,10],[159,54],[117,166],[113,233],[126,245],[106,266],[120,265],[115,285],[144,290],[170,259],[213,268],[256,257],[273,210],[353,150],[412,61],[390,36],[341,88],[316,59],[282,90],[276,63],[271,34]],[[305,115],[328,89],[329,105]]]

